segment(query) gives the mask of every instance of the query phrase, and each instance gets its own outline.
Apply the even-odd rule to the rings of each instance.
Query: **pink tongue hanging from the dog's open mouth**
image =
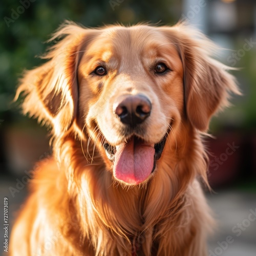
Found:
[[[139,184],[146,180],[154,167],[154,154],[154,144],[134,138],[122,143],[115,154],[115,178],[128,184]]]

